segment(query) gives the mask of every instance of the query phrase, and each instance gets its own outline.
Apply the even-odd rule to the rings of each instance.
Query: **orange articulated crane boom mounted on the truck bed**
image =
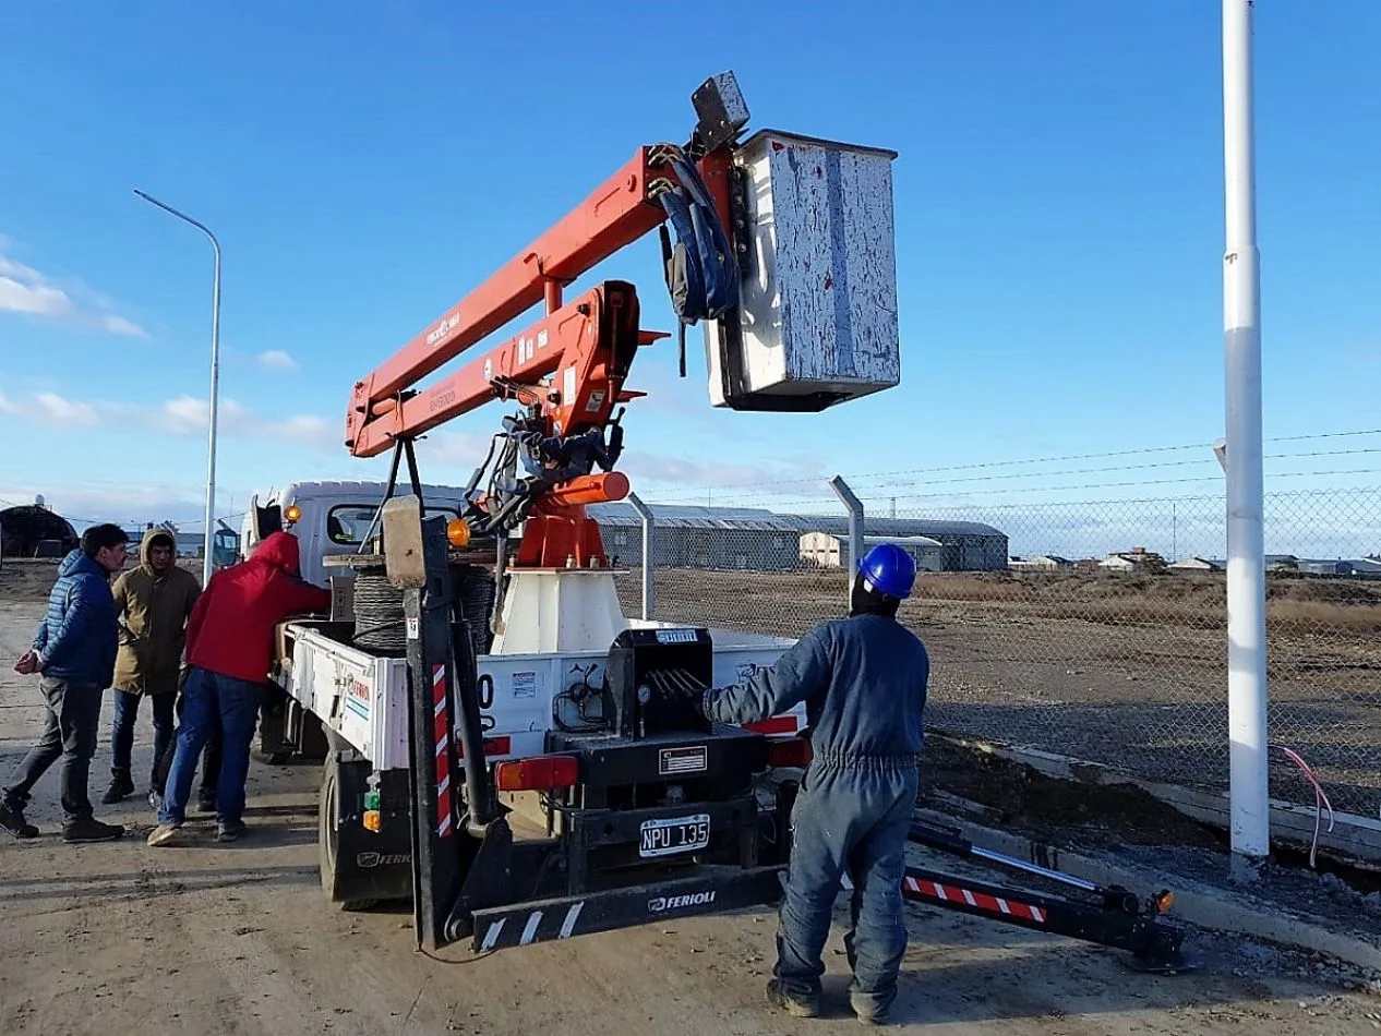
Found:
[[[505,419],[501,438],[507,445],[487,492],[476,492],[476,486],[494,449],[476,470],[467,514],[482,536],[501,539],[523,525],[514,559],[518,566],[606,564],[598,525],[587,518],[586,506],[628,493],[628,479],[612,470],[623,448],[615,407],[644,395],[624,388],[628,369],[641,345],[666,337],[638,326],[632,285],[605,282],[565,304],[563,289],[660,227],[668,209],[678,218],[689,211],[684,202],[663,198],[666,192],[681,198],[684,180],[700,181],[696,218],[722,231],[715,258],[733,261],[732,244],[729,254],[724,251],[732,240],[732,146],[747,109],[732,73],[707,80],[692,99],[699,123],[689,144],[641,146],[584,202],[356,381],[351,392],[345,446],[356,457],[395,450],[389,495],[400,457],[407,459],[413,485],[420,485],[413,452],[420,435],[493,399],[516,399],[525,406]],[[684,221],[677,233],[686,233]],[[667,249],[668,242],[664,236]],[[545,303],[545,315],[536,323],[418,388],[420,381],[537,303]],[[724,312],[725,304],[718,305],[714,312]],[[526,475],[518,474],[519,459]],[[595,466],[605,474],[595,474]]]

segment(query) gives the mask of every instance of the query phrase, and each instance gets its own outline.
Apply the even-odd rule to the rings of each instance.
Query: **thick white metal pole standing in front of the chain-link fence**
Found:
[[[1222,3],[1228,738],[1233,874],[1248,881],[1261,876],[1271,852],[1261,463],[1261,254],[1257,250],[1251,7],[1251,0]]]

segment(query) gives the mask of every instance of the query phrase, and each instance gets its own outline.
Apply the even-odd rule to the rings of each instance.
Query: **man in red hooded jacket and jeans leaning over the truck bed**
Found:
[[[217,840],[235,841],[244,834],[244,780],[260,699],[273,662],[273,627],[293,615],[327,612],[330,605],[329,590],[302,582],[297,537],[286,532],[275,532],[247,561],[211,576],[186,624],[182,727],[149,845],[177,838],[196,758],[217,716],[222,736]]]

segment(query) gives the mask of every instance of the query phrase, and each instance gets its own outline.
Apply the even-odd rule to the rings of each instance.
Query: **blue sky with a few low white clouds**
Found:
[[[351,384],[639,144],[684,138],[690,90],[726,68],[757,127],[899,152],[903,380],[822,416],[733,414],[697,348],[685,381],[674,345],[644,351],[639,492],[762,503],[768,482],[916,471],[860,485],[982,510],[1132,492],[1112,483],[1164,459],[1206,481],[1157,495],[1218,492],[1201,450],[1016,468],[1011,497],[1008,468],[979,467],[1221,434],[1218,4],[737,7],[0,1],[0,499],[199,514],[210,249],[133,188],[225,250],[229,512],[291,478],[376,477],[340,445]],[[1374,428],[1381,4],[1261,3],[1255,23],[1266,435]],[[657,260],[649,235],[581,283],[634,280],[645,326],[671,329]],[[434,435],[424,474],[464,478],[504,412]]]

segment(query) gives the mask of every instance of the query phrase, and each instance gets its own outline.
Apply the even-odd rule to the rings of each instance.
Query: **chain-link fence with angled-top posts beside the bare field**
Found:
[[[905,503],[895,485],[865,497],[865,546],[900,543],[921,569],[902,619],[934,659],[931,728],[1226,787],[1221,493]],[[844,611],[841,506],[652,508],[656,617],[800,635]],[[1265,525],[1271,742],[1316,771],[1335,808],[1377,816],[1381,559],[1367,554],[1381,553],[1381,489],[1273,493]],[[631,564],[621,590],[638,613]],[[1313,804],[1279,749],[1272,794]]]

